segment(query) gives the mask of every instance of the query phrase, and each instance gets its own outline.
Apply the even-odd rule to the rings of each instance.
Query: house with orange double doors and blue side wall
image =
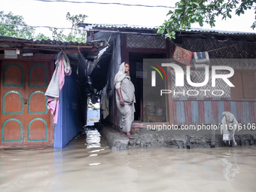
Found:
[[[87,95],[96,98],[90,82],[90,86],[85,86],[88,75],[106,47],[105,41],[33,41],[1,36],[0,148],[63,148],[76,136],[87,122]],[[44,93],[61,50],[69,57],[72,75],[66,76],[59,98],[58,121],[53,123]]]

